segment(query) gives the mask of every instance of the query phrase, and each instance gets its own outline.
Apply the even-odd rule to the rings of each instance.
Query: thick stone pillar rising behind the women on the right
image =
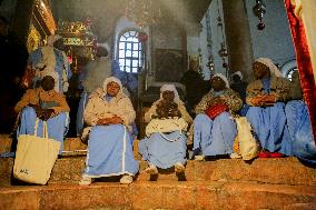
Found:
[[[245,1],[223,0],[223,10],[230,72],[240,71],[251,81],[254,52]]]

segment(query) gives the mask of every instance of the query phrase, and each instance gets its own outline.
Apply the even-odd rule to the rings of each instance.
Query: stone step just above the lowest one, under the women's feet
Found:
[[[78,183],[85,168],[86,157],[58,159],[49,183]],[[174,170],[159,170],[158,178],[150,177],[140,161],[137,180],[188,180],[188,181],[257,181],[276,184],[316,186],[316,169],[304,166],[296,158],[256,159],[251,163],[236,159],[187,162],[185,173],[177,177]],[[0,158],[0,187],[10,186],[13,159]]]

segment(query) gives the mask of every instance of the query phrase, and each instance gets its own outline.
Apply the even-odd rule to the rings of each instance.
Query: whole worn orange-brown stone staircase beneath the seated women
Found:
[[[1,152],[10,144],[0,137]],[[79,139],[65,141],[65,150],[82,149]],[[47,186],[12,182],[13,159],[0,158],[0,209],[316,209],[316,169],[296,158],[188,161],[182,176],[170,169],[150,177],[136,157],[140,173],[134,183],[107,178],[88,187],[78,186],[82,153],[58,159]]]

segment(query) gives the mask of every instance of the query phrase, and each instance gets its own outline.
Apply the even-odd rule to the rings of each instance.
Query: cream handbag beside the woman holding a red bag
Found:
[[[235,119],[237,123],[237,137],[239,141],[239,153],[244,160],[251,160],[257,157],[259,144],[251,133],[251,126],[247,118],[240,117]]]

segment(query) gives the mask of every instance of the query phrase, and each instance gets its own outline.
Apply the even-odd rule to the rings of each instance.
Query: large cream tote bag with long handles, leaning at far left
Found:
[[[43,137],[37,137],[39,119],[36,120],[34,134],[20,134],[14,159],[14,178],[46,184],[58,158],[60,142],[48,138],[47,122],[43,121]]]

